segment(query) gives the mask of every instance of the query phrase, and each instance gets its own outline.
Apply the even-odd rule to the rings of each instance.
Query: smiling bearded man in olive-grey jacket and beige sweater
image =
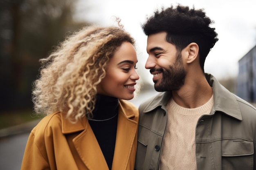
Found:
[[[145,67],[162,93],[139,107],[135,169],[256,170],[256,109],[204,73],[218,41],[211,23],[202,9],[178,5],[142,26]]]

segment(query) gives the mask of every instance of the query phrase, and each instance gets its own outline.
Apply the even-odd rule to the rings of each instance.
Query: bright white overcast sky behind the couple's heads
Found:
[[[204,8],[215,21],[211,26],[216,28],[219,41],[207,56],[205,72],[218,79],[236,76],[238,60],[256,45],[256,0],[79,0],[76,18],[104,26],[114,23],[112,16],[121,18],[124,29],[137,42],[139,73],[149,75],[152,82],[152,75],[144,68],[147,37],[140,25],[155,9],[177,3]]]

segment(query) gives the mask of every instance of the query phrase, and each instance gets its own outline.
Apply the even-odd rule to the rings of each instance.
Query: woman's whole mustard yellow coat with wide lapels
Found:
[[[138,120],[137,107],[119,100],[112,170],[134,170]],[[56,112],[31,131],[21,170],[108,170],[108,165],[88,120],[72,124]]]

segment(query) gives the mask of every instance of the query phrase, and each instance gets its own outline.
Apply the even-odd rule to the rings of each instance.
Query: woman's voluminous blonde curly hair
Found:
[[[135,40],[120,26],[86,26],[67,37],[40,60],[43,66],[32,90],[36,115],[61,111],[72,122],[92,117],[97,85],[123,42],[135,46]]]

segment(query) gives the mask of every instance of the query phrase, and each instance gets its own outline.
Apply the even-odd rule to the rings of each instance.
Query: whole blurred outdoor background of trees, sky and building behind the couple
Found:
[[[29,132],[41,119],[33,116],[31,102],[40,58],[47,57],[66,35],[82,26],[113,25],[113,16],[119,17],[137,42],[138,72],[144,85],[131,102],[139,106],[156,94],[152,75],[144,68],[147,37],[141,23],[155,9],[177,3],[204,8],[215,21],[212,27],[219,41],[206,59],[205,72],[213,74],[232,93],[256,103],[255,0],[0,0],[0,169],[20,168],[28,134],[20,139],[17,135]],[[11,159],[19,153],[18,168],[6,161],[7,152]]]

